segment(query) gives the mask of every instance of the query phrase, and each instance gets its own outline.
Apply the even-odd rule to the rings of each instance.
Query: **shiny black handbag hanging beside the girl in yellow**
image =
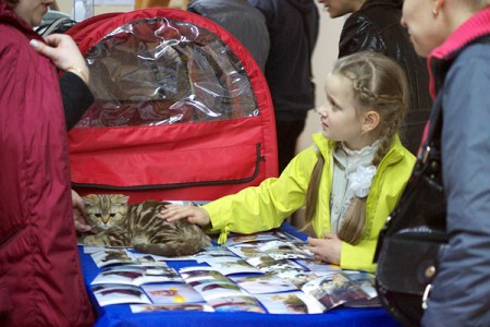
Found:
[[[406,326],[420,324],[439,257],[448,244],[440,152],[442,109],[436,108],[422,152],[380,232],[375,255],[380,302]]]

